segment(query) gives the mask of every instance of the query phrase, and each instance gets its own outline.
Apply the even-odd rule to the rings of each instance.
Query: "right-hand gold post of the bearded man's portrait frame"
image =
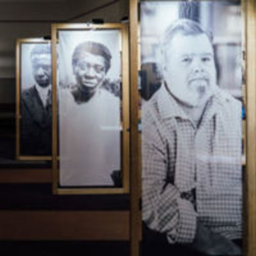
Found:
[[[245,45],[246,45],[246,175],[244,193],[244,252],[246,256],[256,255],[256,2],[245,3]],[[242,2],[243,2],[242,1]]]

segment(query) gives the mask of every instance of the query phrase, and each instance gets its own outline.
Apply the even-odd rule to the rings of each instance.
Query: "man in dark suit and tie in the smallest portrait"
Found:
[[[51,155],[51,45],[37,44],[30,55],[35,84],[21,96],[20,155]]]

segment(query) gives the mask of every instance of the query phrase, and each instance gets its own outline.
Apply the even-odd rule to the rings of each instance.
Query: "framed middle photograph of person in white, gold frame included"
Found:
[[[127,44],[124,24],[52,25],[54,193],[129,191]]]

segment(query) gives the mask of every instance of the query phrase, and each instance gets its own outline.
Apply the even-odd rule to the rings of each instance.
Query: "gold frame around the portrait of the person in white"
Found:
[[[60,30],[77,31],[87,29],[118,29],[122,42],[122,188],[61,188],[57,157],[57,33]],[[129,193],[129,47],[128,28],[126,24],[52,24],[52,191],[58,195],[80,194],[124,194]]]

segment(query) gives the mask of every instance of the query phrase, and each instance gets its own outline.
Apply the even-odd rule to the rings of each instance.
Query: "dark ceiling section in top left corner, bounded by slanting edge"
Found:
[[[68,22],[120,0],[0,0],[0,22]]]

